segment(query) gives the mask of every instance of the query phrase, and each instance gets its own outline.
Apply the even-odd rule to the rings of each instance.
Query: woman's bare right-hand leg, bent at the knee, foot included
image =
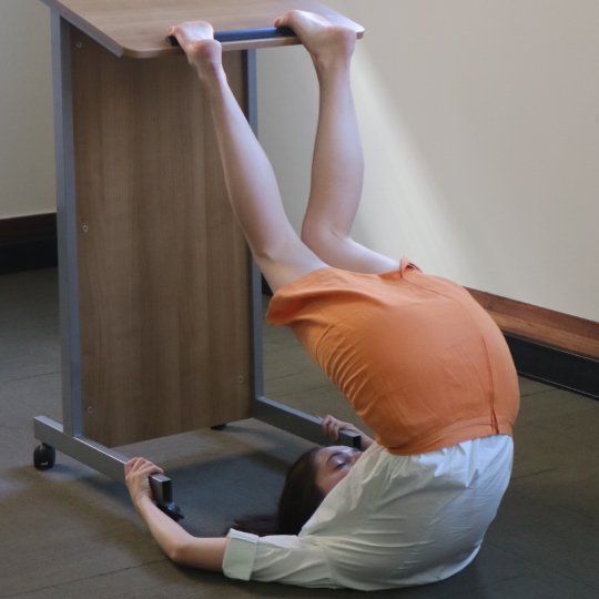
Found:
[[[302,240],[332,266],[364,273],[397,268],[396,260],[377,254],[349,236],[364,173],[349,81],[355,32],[301,11],[285,13],[275,24],[296,32],[311,53],[321,87],[312,189]]]

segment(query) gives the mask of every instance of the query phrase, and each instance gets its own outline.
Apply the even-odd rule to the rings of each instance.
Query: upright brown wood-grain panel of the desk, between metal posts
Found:
[[[83,433],[109,447],[246,418],[250,257],[184,57],[72,31]],[[242,52],[225,68],[244,105]]]

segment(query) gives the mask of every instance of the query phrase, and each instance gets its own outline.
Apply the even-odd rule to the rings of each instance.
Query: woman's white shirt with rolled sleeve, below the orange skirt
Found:
[[[476,557],[511,473],[511,437],[417,456],[376,443],[325,497],[298,536],[231,529],[230,578],[378,590],[435,582]]]

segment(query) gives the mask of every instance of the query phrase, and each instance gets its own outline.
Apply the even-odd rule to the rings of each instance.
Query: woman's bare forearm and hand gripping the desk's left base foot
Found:
[[[125,481],[133,505],[160,548],[174,562],[203,570],[223,571],[226,538],[199,538],[190,535],[163,514],[152,499],[149,477],[162,469],[143,458],[125,464]]]

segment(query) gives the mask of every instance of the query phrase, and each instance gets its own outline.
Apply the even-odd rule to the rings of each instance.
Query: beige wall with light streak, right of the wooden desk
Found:
[[[599,3],[328,0],[366,28],[356,237],[464,285],[599,321]],[[261,138],[305,206],[316,115],[302,49],[258,57]]]

